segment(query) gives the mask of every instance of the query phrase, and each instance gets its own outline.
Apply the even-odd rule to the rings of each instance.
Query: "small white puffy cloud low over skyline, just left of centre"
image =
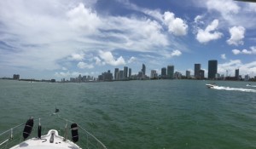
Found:
[[[125,65],[125,60],[122,56],[115,60],[113,54],[110,51],[99,51],[99,56],[104,60],[103,62],[111,66]]]

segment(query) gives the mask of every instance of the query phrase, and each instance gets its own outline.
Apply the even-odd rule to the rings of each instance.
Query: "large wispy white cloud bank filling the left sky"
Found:
[[[0,51],[1,65],[55,70],[70,60],[83,61],[85,54],[99,49],[159,53],[171,43],[163,25],[156,20],[108,14],[102,17],[86,6],[66,0],[0,1],[1,41],[19,49],[11,54]],[[95,60],[96,65],[125,63],[123,57]]]

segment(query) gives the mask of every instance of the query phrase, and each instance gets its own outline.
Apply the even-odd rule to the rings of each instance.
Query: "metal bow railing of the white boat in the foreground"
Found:
[[[53,119],[55,117],[55,119]],[[38,128],[37,121],[42,126],[42,135],[46,135],[49,129],[56,129],[64,140],[72,140],[71,132],[68,126],[73,121],[60,117],[59,114],[53,113],[49,117],[34,118],[34,126],[31,135],[26,139],[37,138]],[[14,128],[8,129],[0,134],[0,149],[10,148],[24,141],[22,133],[26,123],[21,123]],[[76,142],[81,148],[107,149],[107,147],[98,140],[94,135],[90,134],[86,129],[79,127],[79,141]]]

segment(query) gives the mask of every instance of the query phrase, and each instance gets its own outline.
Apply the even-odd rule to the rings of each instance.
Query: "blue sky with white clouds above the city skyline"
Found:
[[[232,0],[0,1],[0,77],[51,79],[114,68],[175,72],[218,60],[256,76],[256,3]]]

